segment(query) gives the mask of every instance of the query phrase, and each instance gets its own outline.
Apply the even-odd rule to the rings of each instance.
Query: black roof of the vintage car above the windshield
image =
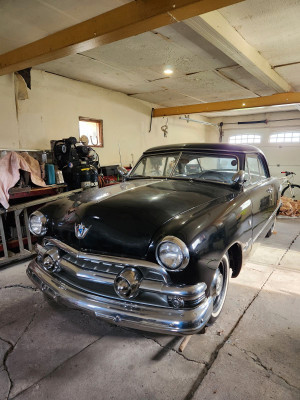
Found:
[[[168,144],[165,146],[152,147],[144,154],[149,153],[161,153],[165,151],[224,151],[229,153],[262,153],[260,149],[249,144],[229,144],[229,143],[180,143],[180,144]]]

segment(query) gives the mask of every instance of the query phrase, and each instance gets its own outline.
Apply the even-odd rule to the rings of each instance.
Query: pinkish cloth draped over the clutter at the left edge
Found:
[[[30,173],[31,181],[35,185],[46,186],[41,178],[39,162],[27,153],[22,153],[22,155],[13,151],[0,160],[0,203],[4,208],[9,207],[8,191],[20,179],[20,169]]]

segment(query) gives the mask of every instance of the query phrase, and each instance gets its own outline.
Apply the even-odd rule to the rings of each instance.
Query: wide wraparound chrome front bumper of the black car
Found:
[[[134,329],[191,335],[206,325],[212,313],[213,305],[210,297],[204,298],[192,309],[173,309],[91,294],[57,279],[39,266],[36,260],[29,264],[27,275],[41,291],[57,303]],[[177,290],[178,295],[181,290],[186,295],[184,286],[178,287]]]

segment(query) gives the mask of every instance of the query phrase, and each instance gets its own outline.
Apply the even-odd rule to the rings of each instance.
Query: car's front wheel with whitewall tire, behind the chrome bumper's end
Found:
[[[211,284],[211,296],[213,298],[213,312],[211,314],[209,324],[213,324],[221,314],[229,283],[229,258],[228,254],[224,254],[219,264],[218,269],[215,272],[212,284]]]

